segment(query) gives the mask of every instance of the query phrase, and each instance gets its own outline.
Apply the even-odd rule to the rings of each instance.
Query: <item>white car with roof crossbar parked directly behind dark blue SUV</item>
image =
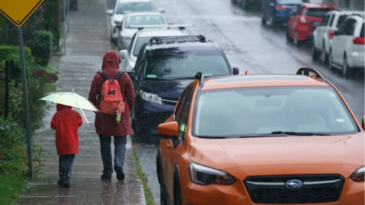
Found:
[[[138,26],[134,27],[138,28]],[[122,60],[121,69],[125,71],[132,71],[134,69],[141,47],[144,43],[149,42],[152,37],[187,36],[188,33],[185,31],[186,27],[192,27],[192,25],[141,25],[141,27],[138,28],[138,31],[133,35],[128,49],[119,51],[119,56]]]

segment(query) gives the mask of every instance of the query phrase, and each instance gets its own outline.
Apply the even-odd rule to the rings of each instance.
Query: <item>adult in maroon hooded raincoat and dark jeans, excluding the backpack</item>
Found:
[[[107,51],[104,54],[101,70],[110,79],[113,79],[119,73],[120,64],[119,54],[116,51]],[[105,78],[100,73],[96,73],[89,92],[89,101],[91,101],[98,109],[100,109],[101,88]],[[125,103],[125,111],[122,114],[122,119],[119,123],[115,120],[115,115],[106,115],[100,112],[96,113],[95,128],[100,139],[100,152],[103,159],[103,175],[102,179],[111,179],[113,173],[112,155],[111,155],[111,136],[114,136],[115,156],[114,170],[118,180],[124,180],[124,154],[126,152],[126,135],[134,134],[129,119],[130,111],[134,106],[135,94],[132,85],[132,80],[127,73],[123,73],[118,79],[120,92]]]

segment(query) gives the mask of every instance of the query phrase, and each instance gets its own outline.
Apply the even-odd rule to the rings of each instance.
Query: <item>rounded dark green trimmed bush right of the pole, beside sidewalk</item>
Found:
[[[53,51],[53,34],[50,31],[37,31],[30,44],[31,54],[39,65],[47,66]]]

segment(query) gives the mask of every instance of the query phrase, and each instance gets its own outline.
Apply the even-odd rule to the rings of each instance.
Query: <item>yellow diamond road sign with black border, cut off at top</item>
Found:
[[[0,13],[15,26],[22,26],[44,0],[0,0]]]

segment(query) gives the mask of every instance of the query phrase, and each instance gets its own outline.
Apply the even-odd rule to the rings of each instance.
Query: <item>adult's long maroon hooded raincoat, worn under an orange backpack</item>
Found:
[[[119,54],[116,51],[107,51],[104,54],[103,65],[101,70],[104,71],[107,76],[112,79],[118,74],[120,64]],[[89,92],[89,101],[91,101],[98,109],[100,109],[100,95],[101,87],[105,79],[100,73],[95,74],[94,79],[91,82],[91,88]],[[122,120],[117,123],[115,115],[105,115],[103,113],[96,113],[95,128],[96,133],[102,136],[123,136],[134,134],[131,122],[129,119],[129,113],[134,106],[135,94],[132,85],[132,80],[128,73],[123,73],[118,79],[120,85],[120,91],[124,101],[126,102],[125,111],[122,114]]]

